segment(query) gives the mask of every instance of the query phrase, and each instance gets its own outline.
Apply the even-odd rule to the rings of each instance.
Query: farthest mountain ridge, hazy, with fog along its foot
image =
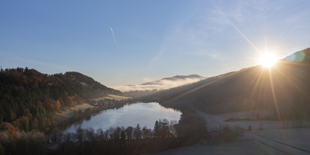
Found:
[[[171,77],[171,78],[162,78],[162,79],[160,79],[160,80],[156,80],[156,81],[151,81],[151,82],[143,83],[143,84],[140,84],[140,86],[142,86],[142,85],[163,85],[163,84],[162,84],[162,81],[164,81],[164,80],[168,80],[168,81],[178,81],[178,80],[186,80],[186,79],[200,79],[200,80],[203,80],[203,79],[206,79],[206,78],[205,78],[205,77],[202,77],[202,76],[200,76],[200,75],[197,75],[197,74],[188,75],[188,76],[176,75],[176,76]]]

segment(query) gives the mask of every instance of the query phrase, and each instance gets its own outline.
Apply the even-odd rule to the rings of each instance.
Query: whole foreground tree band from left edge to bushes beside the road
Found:
[[[205,139],[209,144],[236,140],[240,126],[207,128],[204,117],[184,112],[179,121],[162,119],[152,128],[147,126],[110,127],[106,130],[79,126],[75,132],[63,134],[56,127],[50,135],[38,130],[24,131],[23,126],[0,124],[0,154],[141,154],[157,153],[170,148],[188,146]],[[51,145],[49,144],[51,143]],[[56,144],[56,145],[55,145]],[[58,146],[49,150],[48,146]],[[18,149],[16,149],[18,148]]]

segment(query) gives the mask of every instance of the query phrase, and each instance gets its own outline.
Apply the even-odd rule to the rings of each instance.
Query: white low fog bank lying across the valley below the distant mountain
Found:
[[[122,92],[125,91],[145,91],[145,90],[153,90],[153,89],[168,89],[173,88],[176,86],[181,86],[185,84],[190,84],[194,82],[198,82],[203,80],[204,78],[185,78],[185,79],[179,79],[179,80],[158,80],[153,81],[152,85],[136,85],[136,86],[108,86],[110,88],[120,90]]]

